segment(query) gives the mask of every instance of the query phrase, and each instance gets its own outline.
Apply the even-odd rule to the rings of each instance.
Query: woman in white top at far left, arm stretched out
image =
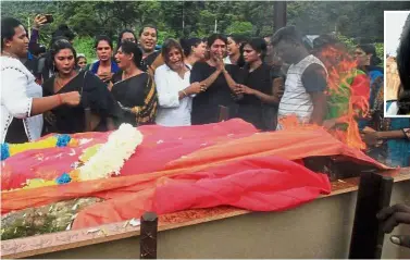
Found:
[[[21,62],[27,57],[28,38],[22,23],[1,18],[1,143],[22,144],[41,136],[42,113],[79,104],[78,91],[42,97],[41,86]]]

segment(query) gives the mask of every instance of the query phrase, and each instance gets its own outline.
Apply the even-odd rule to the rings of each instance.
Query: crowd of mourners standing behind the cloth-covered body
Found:
[[[66,25],[41,46],[45,23],[37,15],[28,39],[20,21],[1,20],[1,143],[122,123],[171,127],[235,117],[260,131],[286,131],[288,116],[337,136],[353,113],[369,156],[394,166],[410,163],[410,119],[384,117],[384,72],[373,45],[350,53],[333,35],[311,42],[286,26],[265,38],[169,38],[158,49],[158,29],[146,25],[138,34],[124,29],[115,45],[97,36],[98,60],[89,62]],[[393,102],[400,114],[410,113],[409,53],[401,44],[402,84]]]

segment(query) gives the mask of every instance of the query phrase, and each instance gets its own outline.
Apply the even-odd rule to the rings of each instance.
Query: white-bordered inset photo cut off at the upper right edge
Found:
[[[410,11],[384,12],[385,117],[410,117]]]

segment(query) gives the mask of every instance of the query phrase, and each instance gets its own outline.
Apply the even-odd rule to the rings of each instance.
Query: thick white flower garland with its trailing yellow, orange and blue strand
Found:
[[[52,181],[28,179],[23,188],[63,185],[119,175],[125,161],[134,154],[141,143],[142,134],[137,128],[131,124],[122,124],[117,131],[110,134],[105,144],[91,146],[83,152],[79,157],[80,166]]]

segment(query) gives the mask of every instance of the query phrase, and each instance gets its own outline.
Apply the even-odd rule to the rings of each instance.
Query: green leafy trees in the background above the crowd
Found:
[[[54,23],[41,28],[40,41],[48,45],[51,32],[66,23],[78,35],[75,46],[87,57],[92,38],[105,34],[116,41],[119,33],[138,33],[145,24],[159,29],[159,44],[165,38],[207,37],[214,33],[264,37],[273,34],[273,1],[1,1],[1,15],[20,18],[26,26],[38,13],[51,13]],[[287,24],[306,35],[336,33],[351,39],[383,42],[384,10],[410,10],[410,1],[288,1]],[[409,23],[409,22],[408,22]],[[216,26],[215,26],[216,24]],[[381,45],[377,51],[383,57]]]

